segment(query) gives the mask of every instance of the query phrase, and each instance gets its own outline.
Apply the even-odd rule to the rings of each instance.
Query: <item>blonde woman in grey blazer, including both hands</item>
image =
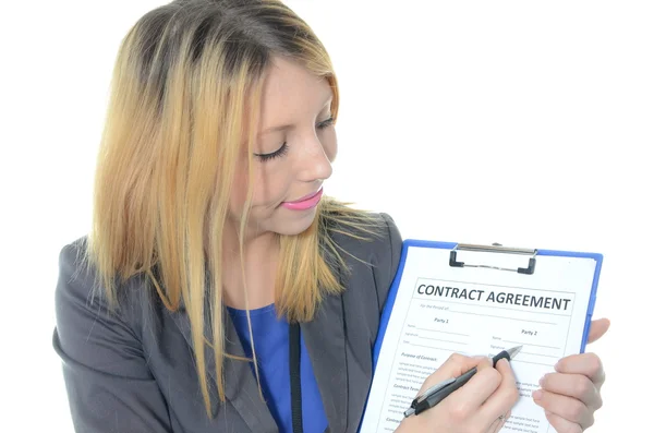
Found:
[[[356,431],[401,238],[323,196],[338,107],[325,48],[278,1],[175,0],[128,33],[93,228],[60,256],[53,345],[76,431]],[[456,356],[425,386],[475,364],[397,431],[498,431],[518,394],[507,363]],[[602,382],[590,354],[545,378],[559,433],[592,423]]]

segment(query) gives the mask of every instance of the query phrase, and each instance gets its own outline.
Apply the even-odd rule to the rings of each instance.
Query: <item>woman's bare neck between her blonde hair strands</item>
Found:
[[[275,278],[279,257],[276,233],[247,238],[240,254],[235,229],[226,230],[222,257],[222,296],[228,306],[258,309],[275,302]]]

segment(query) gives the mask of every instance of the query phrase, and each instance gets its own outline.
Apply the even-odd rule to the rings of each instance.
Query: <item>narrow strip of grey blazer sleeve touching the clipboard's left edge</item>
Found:
[[[376,266],[373,267],[377,287],[379,313],[382,313],[384,304],[386,303],[402,254],[402,236],[398,226],[390,215],[382,213],[380,216],[386,224],[386,233],[384,236],[383,245],[376,249]]]

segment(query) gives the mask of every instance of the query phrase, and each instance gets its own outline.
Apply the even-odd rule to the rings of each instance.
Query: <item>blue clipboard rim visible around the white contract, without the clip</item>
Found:
[[[386,304],[384,305],[382,312],[382,318],[379,324],[379,330],[377,334],[377,339],[375,341],[375,347],[373,351],[373,372],[375,372],[377,366],[377,360],[379,357],[379,351],[382,350],[382,344],[384,341],[384,336],[386,334],[386,327],[388,326],[388,321],[390,318],[390,313],[392,311],[392,306],[395,304],[395,300],[397,297],[398,288],[400,285],[400,280],[402,279],[402,274],[404,270],[404,262],[407,260],[408,250],[411,246],[419,248],[435,248],[435,249],[446,249],[456,251],[459,246],[457,242],[438,242],[438,241],[427,241],[427,240],[417,240],[417,239],[407,239],[402,242],[402,253],[400,256],[400,264],[398,270],[396,273],[395,279],[390,287],[388,297],[386,299]],[[479,251],[488,251],[488,249],[494,249],[494,251],[501,252],[502,246],[485,246],[485,245],[470,245],[475,246]],[[600,253],[589,253],[589,252],[572,252],[572,251],[558,251],[558,250],[533,250],[533,256],[537,258],[537,256],[560,256],[560,257],[582,257],[582,258],[593,258],[596,262],[595,266],[595,275],[593,277],[593,286],[591,288],[591,297],[589,299],[588,310],[586,310],[586,320],[584,324],[583,338],[580,347],[580,352],[583,353],[585,351],[585,346],[589,338],[589,332],[591,327],[591,320],[593,316],[593,311],[595,309],[595,300],[597,297],[597,285],[600,281],[600,272],[602,269],[602,263],[604,256]]]

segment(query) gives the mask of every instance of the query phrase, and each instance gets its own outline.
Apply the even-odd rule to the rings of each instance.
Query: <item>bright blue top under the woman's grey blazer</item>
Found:
[[[245,310],[227,309],[247,357],[252,342]],[[275,304],[251,310],[252,335],[256,346],[262,390],[280,433],[292,433],[291,378],[289,373],[289,324],[278,320]],[[300,336],[300,377],[302,381],[302,421],[305,433],[323,433],[327,418],[311,360]],[[251,363],[254,373],[254,364]]]

